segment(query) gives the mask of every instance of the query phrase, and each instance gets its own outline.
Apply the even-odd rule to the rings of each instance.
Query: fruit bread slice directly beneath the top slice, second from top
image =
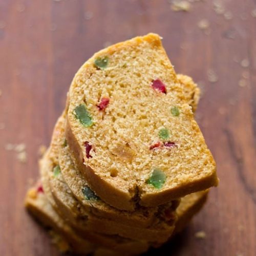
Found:
[[[192,106],[193,111],[195,112],[199,101],[199,88],[188,76],[178,75],[178,79],[183,90],[185,91],[187,102]],[[61,134],[63,133],[64,121],[64,117],[59,118],[57,124],[55,125],[54,134],[56,135],[53,135],[52,137],[52,146],[60,148],[59,166],[65,182],[71,189],[76,199],[88,211],[93,212],[95,215],[115,220],[116,222],[124,222],[127,225],[146,227],[150,226],[152,222],[155,221],[156,216],[159,216],[160,212],[162,212],[163,215],[164,212],[167,211],[169,215],[170,207],[175,210],[178,204],[177,202],[173,201],[171,205],[170,203],[165,204],[164,207],[144,208],[141,206],[139,209],[137,209],[137,211],[131,213],[129,211],[121,211],[113,208],[95,196],[93,191],[88,186],[88,183],[83,179],[83,176],[75,166],[75,161],[73,161],[74,157],[72,157],[70,154],[71,151],[69,150],[69,146],[63,146],[63,144],[66,144],[64,143],[65,139],[60,139],[63,137]],[[55,156],[55,158],[57,157]],[[94,200],[94,198],[97,198],[97,200]]]

